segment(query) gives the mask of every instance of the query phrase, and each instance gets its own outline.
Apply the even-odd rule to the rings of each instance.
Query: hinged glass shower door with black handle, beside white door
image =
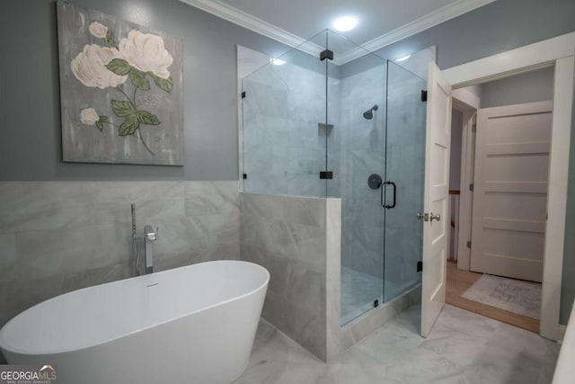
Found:
[[[425,80],[388,61],[385,177],[397,191],[395,207],[385,210],[385,302],[421,281],[423,228],[416,215],[423,210],[425,88]],[[385,201],[394,202],[392,185],[386,186]]]

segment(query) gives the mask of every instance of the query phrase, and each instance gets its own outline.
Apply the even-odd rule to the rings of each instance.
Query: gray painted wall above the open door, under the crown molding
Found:
[[[438,66],[454,67],[575,31],[572,0],[498,0],[379,49],[383,58],[438,45]]]

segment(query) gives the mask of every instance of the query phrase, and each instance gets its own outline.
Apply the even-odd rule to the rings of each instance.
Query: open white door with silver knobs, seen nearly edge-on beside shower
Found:
[[[423,194],[423,276],[421,335],[427,336],[446,301],[449,218],[449,145],[451,85],[435,63],[429,63]]]

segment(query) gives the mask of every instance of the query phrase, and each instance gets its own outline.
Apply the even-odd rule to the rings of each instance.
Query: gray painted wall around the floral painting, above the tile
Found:
[[[61,162],[54,0],[4,1],[0,45],[0,180],[236,180],[235,45],[277,57],[288,48],[177,0],[75,4],[183,40],[184,166]]]

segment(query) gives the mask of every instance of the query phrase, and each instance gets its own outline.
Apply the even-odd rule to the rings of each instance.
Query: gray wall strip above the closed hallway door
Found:
[[[482,108],[553,100],[554,68],[482,84]]]

